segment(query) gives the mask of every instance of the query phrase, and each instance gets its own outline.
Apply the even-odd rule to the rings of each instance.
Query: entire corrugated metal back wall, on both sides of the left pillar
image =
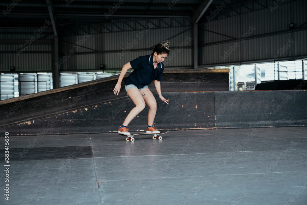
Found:
[[[0,39],[39,39],[35,29],[1,29]],[[50,31],[50,30],[49,30]],[[48,31],[48,32],[49,32]],[[52,31],[52,30],[51,30]],[[59,37],[61,71],[121,69],[122,65],[141,55],[149,55],[153,47],[168,39],[171,54],[165,67],[192,65],[192,34],[190,19],[163,18],[113,22],[85,26],[67,26]],[[52,39],[53,35],[45,39]],[[180,47],[178,49],[177,47]],[[29,45],[23,53],[21,45],[0,45],[0,71],[10,66],[22,71],[51,71],[52,46]],[[173,52],[175,51],[176,52]]]

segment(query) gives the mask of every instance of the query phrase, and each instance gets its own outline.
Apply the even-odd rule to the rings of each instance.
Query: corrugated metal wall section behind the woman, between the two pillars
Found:
[[[63,71],[94,70],[100,64],[106,69],[121,69],[125,63],[151,54],[153,47],[166,39],[170,41],[173,57],[169,55],[165,67],[192,66],[192,30],[184,18],[78,26],[65,32],[68,35],[60,38]],[[80,41],[82,38],[84,41]],[[66,58],[64,54],[71,49],[73,55]]]

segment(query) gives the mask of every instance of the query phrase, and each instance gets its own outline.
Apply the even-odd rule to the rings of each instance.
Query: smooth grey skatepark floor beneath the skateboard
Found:
[[[10,136],[10,201],[3,159],[0,203],[306,205],[306,133],[180,130],[133,143],[116,133]]]

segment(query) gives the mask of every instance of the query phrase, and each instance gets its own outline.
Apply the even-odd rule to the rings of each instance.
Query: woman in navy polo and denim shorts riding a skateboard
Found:
[[[154,80],[159,98],[168,104],[161,94],[160,81],[164,69],[163,61],[169,54],[169,41],[163,41],[155,46],[153,53],[149,56],[140,56],[133,61],[126,63],[122,67],[122,71],[119,74],[119,79],[114,88],[114,94],[118,95],[120,91],[120,84],[128,69],[133,68],[134,71],[127,77],[125,83],[126,93],[132,99],[135,107],[129,112],[124,123],[119,127],[118,133],[130,135],[128,132],[128,124],[138,115],[146,106],[149,107],[148,111],[148,125],[146,127],[146,133],[160,133],[153,127],[153,120],[156,116],[157,102],[153,94],[150,92],[147,85]]]

